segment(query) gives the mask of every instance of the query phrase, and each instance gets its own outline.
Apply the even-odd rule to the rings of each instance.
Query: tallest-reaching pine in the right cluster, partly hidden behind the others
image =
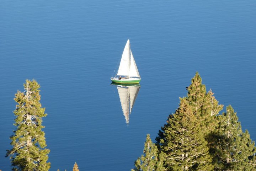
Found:
[[[187,87],[187,90],[186,99],[206,136],[215,129],[216,116],[222,110],[223,105],[218,105],[212,90],[206,93],[206,86],[202,84],[202,78],[198,72],[192,78],[191,85]]]

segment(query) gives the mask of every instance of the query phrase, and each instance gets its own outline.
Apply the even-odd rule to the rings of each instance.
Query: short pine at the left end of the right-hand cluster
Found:
[[[135,161],[135,167],[131,171],[164,171],[163,157],[158,156],[158,149],[149,134],[146,135],[143,153],[144,155]]]

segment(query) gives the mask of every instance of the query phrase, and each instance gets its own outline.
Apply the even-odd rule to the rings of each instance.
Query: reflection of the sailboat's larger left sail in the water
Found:
[[[126,119],[126,123],[129,123],[129,90],[128,87],[117,87],[123,115]]]

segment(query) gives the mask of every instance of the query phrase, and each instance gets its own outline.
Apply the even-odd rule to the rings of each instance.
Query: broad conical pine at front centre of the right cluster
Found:
[[[187,100],[180,100],[179,108],[168,117],[156,138],[164,166],[167,171],[211,171],[212,157],[197,118]]]

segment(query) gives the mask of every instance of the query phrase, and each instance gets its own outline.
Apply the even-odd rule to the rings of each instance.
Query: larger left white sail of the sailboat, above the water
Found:
[[[130,70],[130,40],[128,39],[122,54],[117,75],[129,75]]]

